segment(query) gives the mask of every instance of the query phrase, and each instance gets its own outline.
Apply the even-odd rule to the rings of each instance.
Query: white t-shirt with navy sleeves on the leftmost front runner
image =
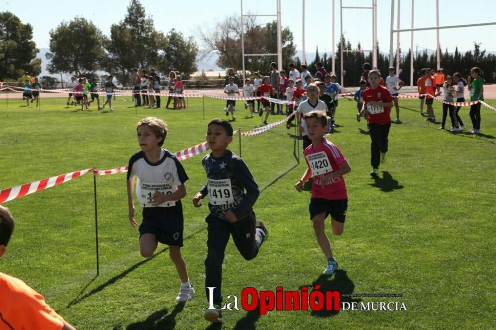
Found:
[[[176,156],[165,149],[160,150],[160,160],[151,163],[144,151],[139,151],[129,159],[127,180],[137,175],[136,197],[142,207],[154,207],[148,198],[153,196],[156,190],[163,194],[172,194],[178,190],[178,186],[184,184],[188,176],[183,165]],[[177,201],[168,201],[158,207],[176,206]]]

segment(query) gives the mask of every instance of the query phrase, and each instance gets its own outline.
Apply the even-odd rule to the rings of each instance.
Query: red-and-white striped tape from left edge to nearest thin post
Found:
[[[80,171],[75,171],[67,174],[61,174],[58,176],[52,176],[47,179],[34,181],[31,183],[26,183],[13,188],[8,188],[0,191],[0,204],[4,202],[11,201],[16,198],[20,198],[37,191],[48,189],[57,186],[61,183],[73,180],[81,175],[91,172],[93,169],[88,168]]]

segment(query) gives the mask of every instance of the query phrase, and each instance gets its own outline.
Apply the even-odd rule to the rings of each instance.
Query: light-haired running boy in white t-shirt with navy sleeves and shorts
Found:
[[[141,151],[129,159],[127,171],[127,204],[129,222],[135,227],[133,187],[138,177],[136,196],[143,208],[143,221],[139,226],[139,251],[150,258],[157,244],[169,245],[169,257],[174,262],[181,287],[177,302],[191,300],[194,289],[189,282],[186,263],[181,255],[184,217],[181,198],[186,196],[188,179],[183,165],[176,156],[162,149],[167,136],[167,125],[162,119],[146,117],[136,125]]]

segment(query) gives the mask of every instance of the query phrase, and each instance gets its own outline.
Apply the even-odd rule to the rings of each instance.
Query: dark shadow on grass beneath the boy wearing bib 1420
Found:
[[[315,279],[310,285],[304,285],[309,288],[309,296],[310,293],[313,291],[311,288],[315,288],[317,285],[320,286],[318,288],[318,291],[322,292],[324,297],[326,295],[326,292],[338,291],[340,293],[340,309],[343,302],[359,303],[362,301],[362,299],[354,299],[349,296],[353,293],[353,291],[355,291],[355,284],[350,279],[350,277],[348,277],[348,274],[346,274],[346,271],[344,270],[337,270],[334,275],[322,274],[318,276],[317,279]],[[311,311],[310,315],[321,318],[336,316],[339,313],[339,309],[335,310],[333,305],[327,306],[327,303],[334,304],[334,299],[332,301],[325,301],[325,303],[323,304],[323,308],[320,311]]]

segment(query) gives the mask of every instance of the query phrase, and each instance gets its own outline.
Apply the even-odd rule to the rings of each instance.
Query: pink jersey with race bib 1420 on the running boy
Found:
[[[305,149],[305,161],[309,170],[312,172],[313,183],[311,186],[311,198],[324,198],[329,200],[346,199],[346,183],[343,176],[332,179],[323,188],[320,185],[320,179],[332,172],[338,170],[341,165],[346,163],[346,158],[338,147],[326,139],[316,148],[313,145]]]

